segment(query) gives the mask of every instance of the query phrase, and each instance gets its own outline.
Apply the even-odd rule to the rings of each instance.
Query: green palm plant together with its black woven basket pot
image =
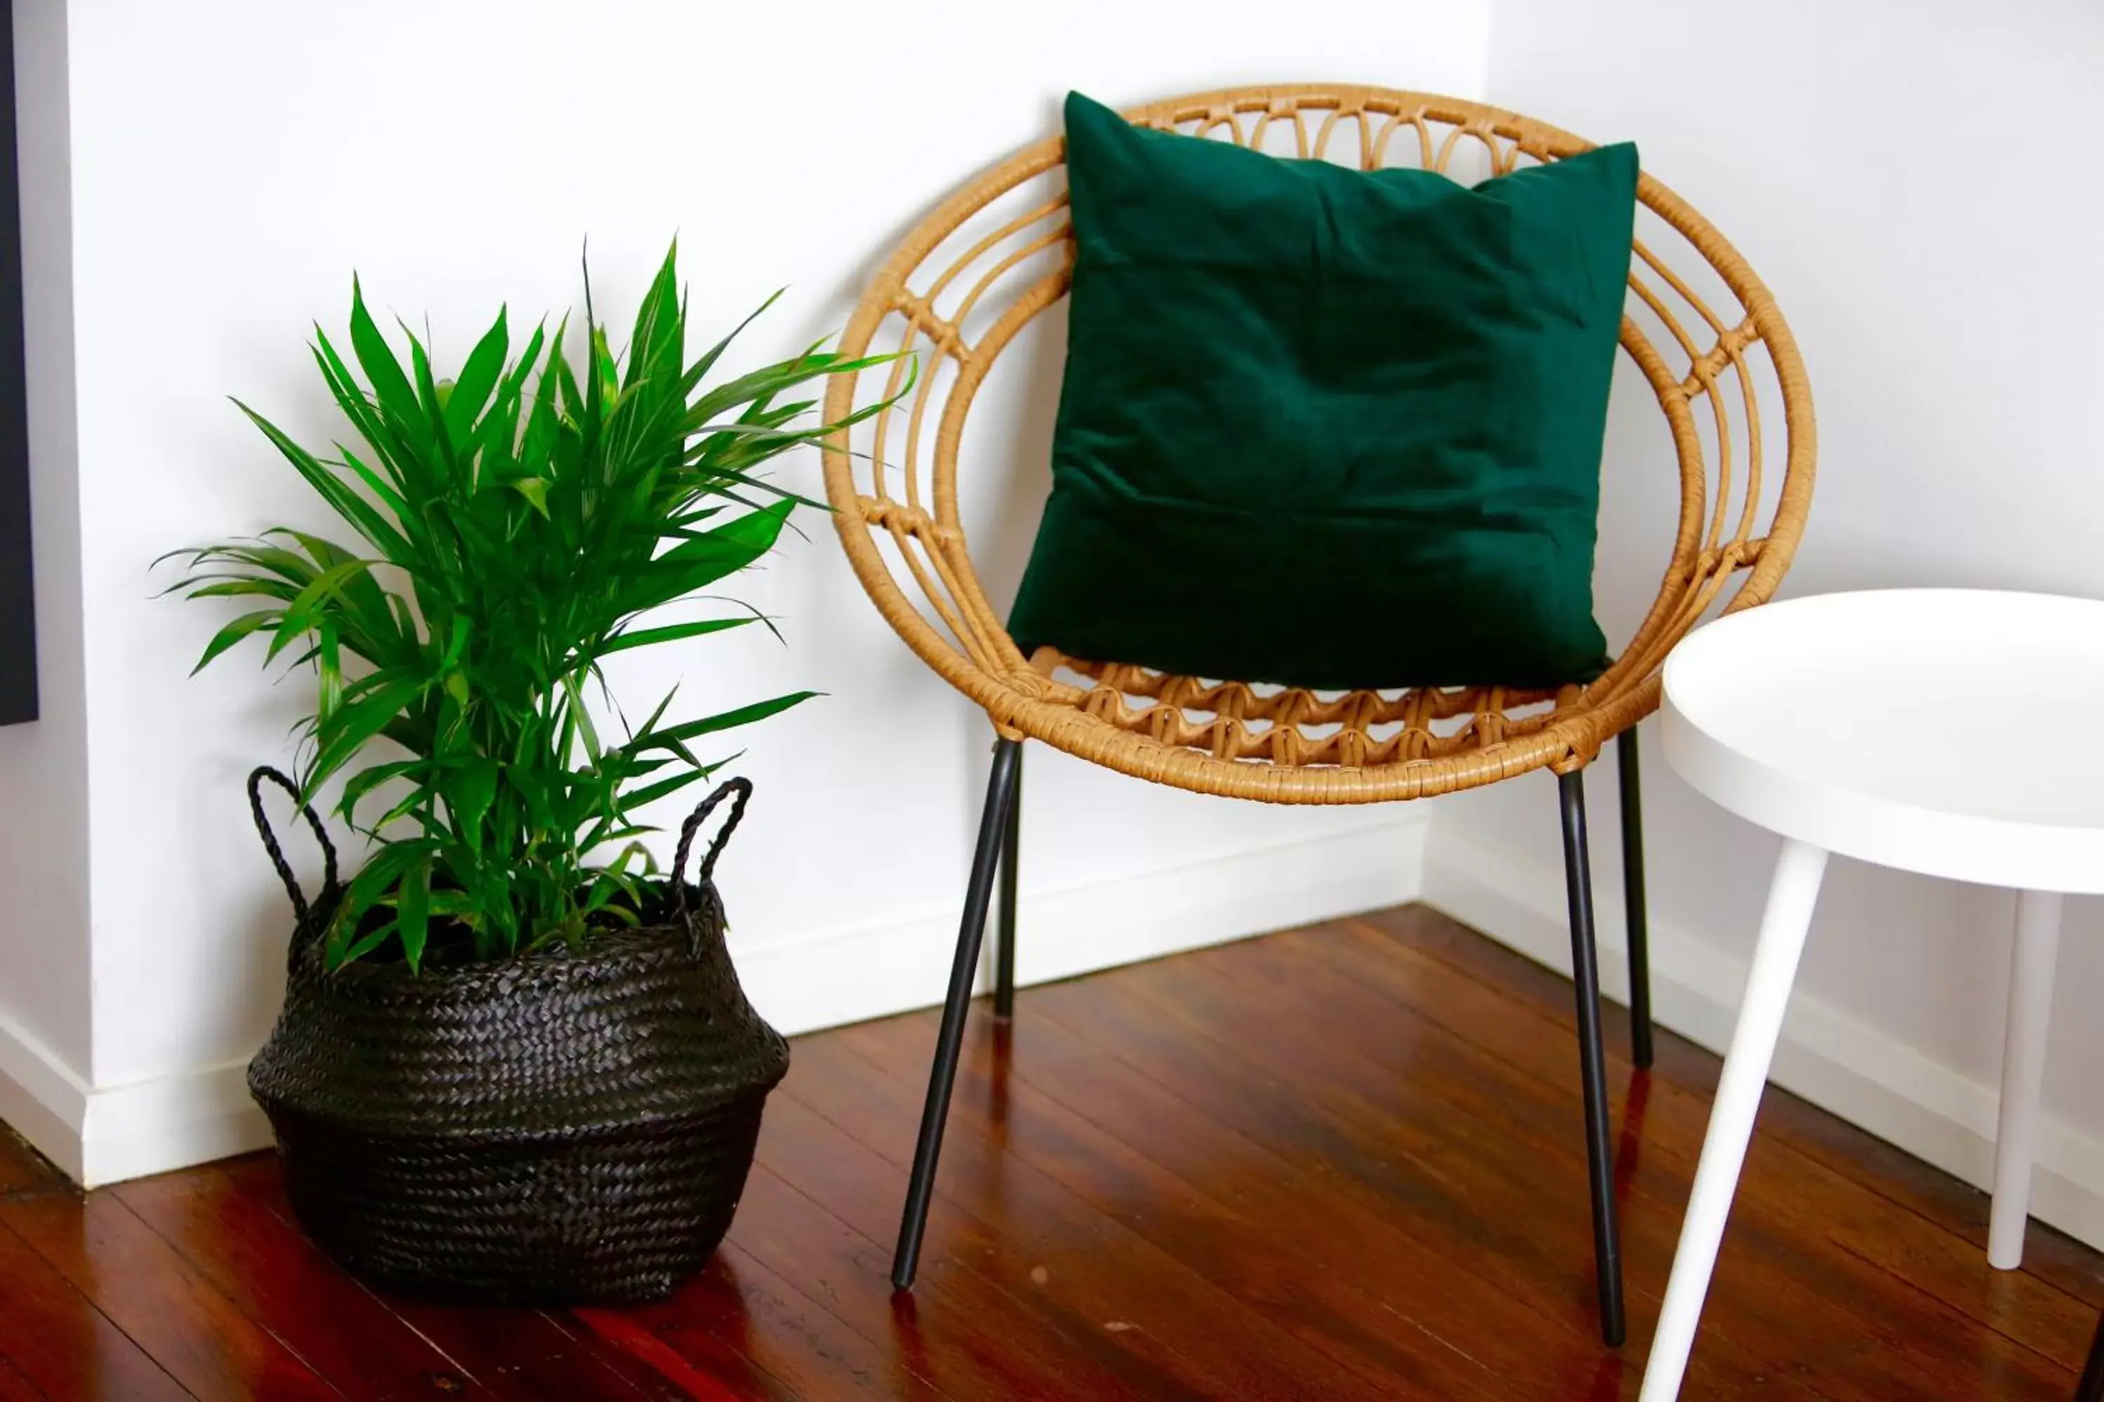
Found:
[[[299,782],[259,769],[248,786],[297,916],[284,1013],[248,1068],[290,1202],[351,1272],[454,1299],[673,1288],[728,1230],[789,1059],[739,990],[711,879],[751,786],[694,809],[669,872],[638,811],[715,769],[694,752],[707,736],[810,692],[699,719],[671,719],[665,696],[629,725],[604,664],[770,626],[667,610],[774,544],[802,498],[755,471],[839,427],[812,427],[795,391],[869,362],[814,347],[717,380],[730,338],[686,359],[675,252],[623,353],[589,282],[585,307],[576,368],[564,326],[513,355],[499,313],[438,378],[414,334],[396,355],[353,282],[351,357],[320,330],[313,355],[358,448],[307,452],[242,406],[351,536],[183,551],[173,586],[259,603],[200,668],[265,639],[265,664],[318,683]],[[328,855],[311,904],[265,780]],[[311,807],[332,782],[370,843],[341,883]]]

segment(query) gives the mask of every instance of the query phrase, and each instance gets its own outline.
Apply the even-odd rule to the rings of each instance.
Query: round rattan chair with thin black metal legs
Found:
[[[1128,116],[1281,156],[1363,168],[1418,164],[1456,177],[1498,174],[1591,145],[1481,103],[1363,86],[1235,88],[1151,103]],[[1069,658],[1052,650],[1025,658],[972,565],[957,469],[966,456],[959,452],[966,416],[995,359],[1067,292],[1063,160],[1058,137],[1037,141],[970,179],[919,221],[871,282],[842,338],[848,355],[917,351],[919,378],[909,380],[901,359],[863,376],[837,376],[825,404],[829,418],[842,418],[858,404],[905,391],[894,410],[829,444],[827,494],[848,559],[877,610],[928,666],[987,710],[997,736],[892,1280],[901,1288],[913,1284],[997,872],[995,1015],[1006,1017],[1014,1007],[1023,740],[1157,784],[1269,803],[1431,799],[1551,769],[1563,811],[1601,1333],[1616,1345],[1624,1335],[1622,1280],[1582,776],[1601,746],[1620,738],[1633,1057],[1647,1066],[1650,975],[1631,727],[1658,706],[1660,664],[1673,643],[1706,614],[1767,599],[1791,563],[1812,498],[1814,429],[1788,326],[1723,235],[1645,174],[1622,349],[1664,410],[1679,465],[1679,525],[1671,549],[1660,551],[1666,559],[1656,603],[1614,666],[1589,685],[1338,696],[1174,677],[1119,658]],[[1666,254],[1677,254],[1679,267]],[[1778,404],[1782,471],[1763,479],[1763,456],[1776,456],[1776,446],[1761,437],[1763,414],[1774,425]],[[1044,448],[1006,444],[1002,454],[972,456],[1014,460]],[[1397,620],[1397,626],[1437,626],[1437,618]]]

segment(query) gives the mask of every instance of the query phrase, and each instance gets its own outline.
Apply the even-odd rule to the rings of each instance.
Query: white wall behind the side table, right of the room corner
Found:
[[[2104,595],[2091,408],[2104,193],[2079,137],[2104,122],[2104,11],[1498,0],[1490,71],[1498,105],[1635,139],[1645,168],[1776,292],[1820,425],[1812,523],[1784,595],[1927,582]],[[1637,385],[1622,393],[1643,399]],[[1639,620],[1664,549],[1639,502],[1671,492],[1656,418],[1639,404],[1610,431],[1599,593],[1612,637]],[[2051,763],[2051,746],[2093,723],[2018,698],[2003,715],[1955,715],[1946,761],[1965,763],[1967,731],[1997,725],[2035,731]],[[1721,1043],[1776,841],[1647,757],[1660,998],[1668,1022]],[[1605,818],[1599,887],[1618,908],[1610,771],[1595,771],[1591,799]],[[1555,853],[1546,780],[1456,799],[1437,820],[1431,895],[1553,954]],[[1837,862],[1778,1078],[1986,1181],[2011,912],[1999,891]],[[2070,902],[2037,1209],[2091,1240],[2104,1240],[2098,988],[2104,904]]]

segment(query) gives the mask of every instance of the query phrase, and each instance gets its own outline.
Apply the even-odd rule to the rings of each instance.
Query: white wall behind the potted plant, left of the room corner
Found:
[[[238,1068],[278,996],[288,912],[240,784],[259,761],[288,763],[284,731],[307,696],[301,681],[265,685],[252,656],[185,681],[219,616],[156,601],[147,561],[276,521],[326,523],[225,395],[295,437],[339,433],[303,341],[313,319],[341,326],[353,267],[377,307],[427,322],[440,357],[457,359],[501,301],[515,322],[576,305],[587,235],[600,305],[627,307],[677,231],[701,326],[793,284],[749,347],[778,357],[846,317],[932,200],[1050,130],[1069,86],[1136,101],[1321,76],[1466,95],[1481,90],[1488,25],[1481,2],[1431,0],[1347,0],[1321,23],[1256,0],[1201,15],[1084,0],[1056,23],[930,0],[587,8],[368,0],[347,21],[341,6],[263,0],[69,6],[86,519],[67,532],[40,515],[38,551],[48,572],[78,542],[84,662],[69,666],[86,675],[88,803],[82,820],[78,719],[46,721],[40,740],[0,746],[69,757],[44,788],[74,830],[13,788],[0,822],[34,828],[19,845],[8,832],[6,860],[40,872],[44,851],[78,866],[84,822],[93,902],[63,864],[38,879],[50,902],[72,900],[65,919],[8,902],[8,958],[36,967],[40,929],[63,931],[63,958],[38,977],[61,980],[65,998],[8,977],[0,1013],[42,1028],[50,1057],[93,1083],[88,1177],[255,1135]],[[19,11],[59,17],[57,0]],[[59,389],[38,401],[61,404]],[[57,427],[38,452],[55,479],[44,513],[67,486]],[[816,483],[814,462],[793,471]],[[808,528],[810,542],[741,584],[781,616],[787,650],[753,631],[629,675],[650,696],[682,679],[694,713],[829,692],[734,738],[760,797],[722,874],[741,963],[785,1026],[938,994],[989,740],[861,597],[829,525]],[[1012,578],[1014,561],[995,572]],[[61,582],[44,603],[72,612],[72,597]],[[61,652],[65,637],[46,631]],[[61,656],[53,700],[65,677]],[[1033,752],[1025,790],[1027,973],[1378,904],[1416,883],[1405,813],[1206,801],[1048,752]],[[1355,837],[1313,843],[1334,834]],[[1172,900],[1193,889],[1208,900]]]

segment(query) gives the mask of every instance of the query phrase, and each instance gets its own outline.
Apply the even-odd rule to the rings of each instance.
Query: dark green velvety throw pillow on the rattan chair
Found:
[[[1025,654],[1586,681],[1637,149],[1473,189],[1067,97],[1075,267]]]

